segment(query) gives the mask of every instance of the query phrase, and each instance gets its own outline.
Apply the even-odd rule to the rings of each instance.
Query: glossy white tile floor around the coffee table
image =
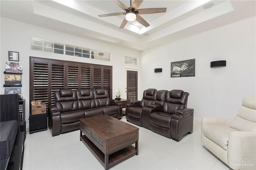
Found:
[[[128,123],[125,116],[122,117],[122,121]],[[195,121],[193,133],[184,136],[180,142],[166,138],[146,128],[139,128],[138,156],[134,155],[111,169],[230,169],[201,145],[200,122]],[[80,130],[54,137],[52,137],[49,129],[33,134],[27,132],[26,135],[23,170],[104,169],[90,150],[79,140]]]

